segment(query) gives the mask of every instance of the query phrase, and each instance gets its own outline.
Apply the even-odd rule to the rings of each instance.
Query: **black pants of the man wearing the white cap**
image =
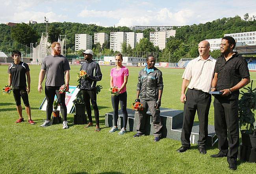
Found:
[[[86,108],[89,122],[91,122],[91,123],[93,122],[93,118],[91,117],[91,105],[92,105],[93,109],[94,109],[96,124],[99,125],[100,119],[99,119],[99,109],[97,106],[96,90],[82,89],[82,95],[83,95],[83,100],[85,102],[85,108]],[[90,104],[90,100],[91,100],[91,104]]]

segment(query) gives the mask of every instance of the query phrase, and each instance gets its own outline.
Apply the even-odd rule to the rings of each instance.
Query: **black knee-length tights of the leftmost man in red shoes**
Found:
[[[17,106],[21,105],[21,100],[22,98],[23,103],[25,106],[29,106],[29,101],[28,101],[28,92],[26,86],[23,87],[14,87],[13,89],[13,97],[16,102]]]

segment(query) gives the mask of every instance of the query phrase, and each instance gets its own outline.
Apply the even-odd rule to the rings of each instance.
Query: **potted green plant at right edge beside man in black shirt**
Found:
[[[247,92],[241,91],[239,100],[239,127],[245,126],[246,130],[241,130],[242,144],[240,145],[240,159],[256,162],[256,125],[253,111],[256,109],[256,88],[244,87]]]

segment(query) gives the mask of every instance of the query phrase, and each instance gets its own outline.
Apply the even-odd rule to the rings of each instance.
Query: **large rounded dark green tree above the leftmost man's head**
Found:
[[[22,22],[11,28],[11,39],[29,46],[30,43],[35,43],[37,41],[37,33],[31,26]]]

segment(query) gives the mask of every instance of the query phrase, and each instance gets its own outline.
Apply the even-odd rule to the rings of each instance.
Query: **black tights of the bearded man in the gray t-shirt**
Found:
[[[60,111],[61,115],[63,117],[63,121],[67,121],[67,106],[65,104],[65,93],[60,94],[59,93],[59,86],[46,86],[45,87],[45,96],[47,100],[47,106],[46,106],[46,119],[50,120],[52,116],[52,109],[53,109],[53,102],[54,102],[54,96],[57,96],[58,102],[60,105]]]

